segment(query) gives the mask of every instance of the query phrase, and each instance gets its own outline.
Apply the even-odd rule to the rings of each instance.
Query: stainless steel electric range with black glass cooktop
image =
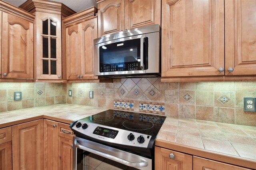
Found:
[[[152,170],[165,116],[107,110],[71,123],[73,170]]]

